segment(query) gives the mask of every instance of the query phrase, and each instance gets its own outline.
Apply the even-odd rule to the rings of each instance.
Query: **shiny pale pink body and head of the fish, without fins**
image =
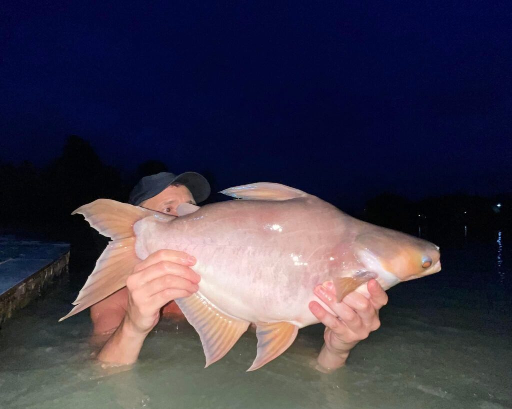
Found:
[[[219,310],[250,322],[286,320],[299,328],[318,322],[308,308],[311,300],[319,301],[315,285],[372,271],[388,289],[427,272],[421,257],[418,268],[402,268],[399,275],[383,265],[402,267],[418,249],[438,258],[425,240],[359,221],[310,195],[213,203],[168,223],[145,218],[134,229],[141,259],[162,248],[194,254],[202,277],[199,293]]]

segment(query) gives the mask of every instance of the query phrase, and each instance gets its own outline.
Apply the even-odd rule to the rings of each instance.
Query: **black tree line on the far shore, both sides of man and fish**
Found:
[[[98,234],[71,212],[100,197],[127,201],[140,177],[166,170],[164,163],[150,160],[124,180],[117,169],[101,161],[89,142],[78,136],[70,136],[62,154],[43,169],[30,162],[0,162],[0,192],[4,198],[0,234],[15,232],[71,243],[95,243]],[[215,185],[214,174],[203,173]],[[415,235],[451,237],[460,236],[464,227],[472,235],[509,228],[511,208],[510,194],[491,198],[458,194],[413,202],[383,193],[369,200],[357,217]]]

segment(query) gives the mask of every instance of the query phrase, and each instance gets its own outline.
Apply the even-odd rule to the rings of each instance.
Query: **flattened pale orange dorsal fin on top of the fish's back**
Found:
[[[250,183],[249,185],[234,186],[220,193],[232,196],[236,199],[251,200],[288,200],[294,199],[295,197],[308,196],[308,194],[302,190],[271,182],[258,182]]]

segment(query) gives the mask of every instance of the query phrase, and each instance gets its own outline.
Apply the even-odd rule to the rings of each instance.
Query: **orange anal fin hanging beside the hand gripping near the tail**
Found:
[[[179,298],[176,303],[199,334],[206,357],[205,367],[226,355],[250,324],[224,314],[198,293]]]

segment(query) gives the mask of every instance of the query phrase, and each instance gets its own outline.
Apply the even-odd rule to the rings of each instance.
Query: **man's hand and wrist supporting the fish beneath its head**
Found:
[[[332,313],[326,311],[318,302],[311,301],[309,309],[325,326],[325,344],[318,356],[317,369],[330,372],[345,364],[350,350],[370,332],[380,326],[378,311],[388,302],[388,295],[380,284],[372,279],[368,282],[370,298],[355,291],[348,294],[342,302],[336,302],[332,283],[326,287],[317,285],[315,295],[320,298]]]

